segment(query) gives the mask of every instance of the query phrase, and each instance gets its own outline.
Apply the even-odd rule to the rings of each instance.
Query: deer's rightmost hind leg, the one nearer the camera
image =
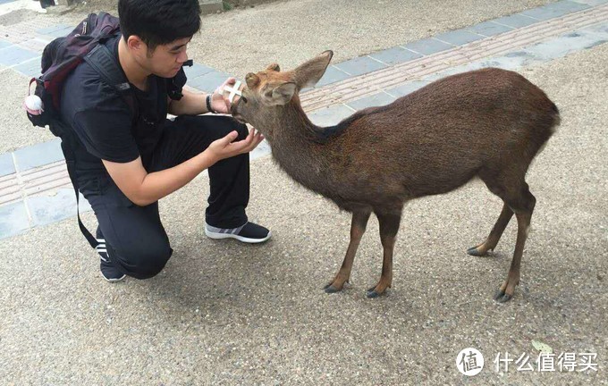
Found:
[[[494,300],[499,303],[504,303],[513,297],[515,286],[519,284],[519,266],[521,264],[521,256],[524,252],[526,239],[528,239],[528,231],[530,228],[530,220],[536,206],[536,197],[530,193],[528,184],[523,182],[520,185],[517,195],[506,197],[506,203],[515,213],[518,224],[517,241],[515,243],[515,252],[513,252],[513,260],[507,279],[502,282],[502,285],[496,294]]]

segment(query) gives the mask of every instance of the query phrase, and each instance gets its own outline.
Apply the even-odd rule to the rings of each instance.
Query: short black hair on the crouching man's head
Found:
[[[198,0],[119,0],[122,37],[137,35],[152,51],[200,28]]]

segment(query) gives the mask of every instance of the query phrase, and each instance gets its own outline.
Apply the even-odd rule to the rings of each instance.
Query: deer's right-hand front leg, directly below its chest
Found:
[[[395,246],[395,238],[399,231],[399,223],[401,222],[400,214],[378,214],[378,222],[380,222],[380,241],[384,249],[384,258],[382,261],[382,274],[380,281],[367,290],[367,298],[377,298],[384,294],[386,289],[391,288],[393,284],[393,250]]]

